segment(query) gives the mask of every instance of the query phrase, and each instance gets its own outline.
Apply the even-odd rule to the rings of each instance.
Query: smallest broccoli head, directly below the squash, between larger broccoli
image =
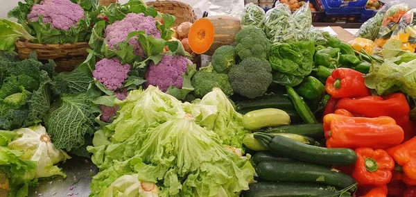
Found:
[[[220,46],[212,55],[212,67],[214,67],[217,73],[226,74],[235,64],[236,51],[233,46]]]

